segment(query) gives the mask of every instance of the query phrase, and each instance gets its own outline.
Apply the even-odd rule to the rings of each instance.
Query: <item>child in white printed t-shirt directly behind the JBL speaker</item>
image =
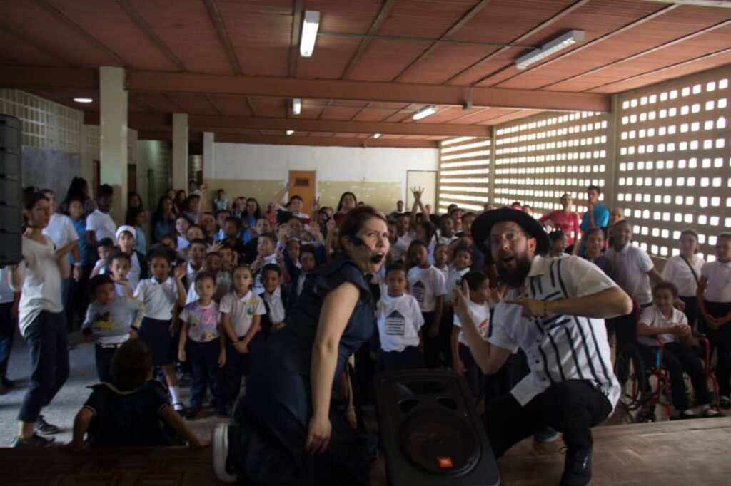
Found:
[[[414,296],[406,293],[406,269],[391,263],[386,269],[387,292],[376,305],[380,347],[378,371],[424,367],[421,352],[421,327],[424,317]]]

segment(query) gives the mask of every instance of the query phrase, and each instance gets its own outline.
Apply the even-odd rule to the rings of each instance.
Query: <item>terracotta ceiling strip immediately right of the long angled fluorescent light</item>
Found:
[[[511,80],[501,82],[499,87],[518,89],[548,87],[567,77],[605,66],[607,63],[618,61],[634,53],[640,53],[731,18],[731,12],[716,10],[701,7],[673,9],[622,34],[613,36],[595,47],[589,47],[545,68],[533,69],[526,74],[519,74]],[[720,16],[720,13],[725,15]],[[668,49],[667,53],[677,53],[675,49],[681,46],[682,44],[676,45],[672,49]]]

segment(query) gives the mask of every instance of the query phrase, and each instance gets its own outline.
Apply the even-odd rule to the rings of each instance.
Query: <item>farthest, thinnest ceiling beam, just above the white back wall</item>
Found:
[[[189,141],[200,142],[200,132],[191,132]],[[172,140],[170,130],[140,130],[138,140]],[[322,136],[277,136],[277,135],[246,135],[216,133],[216,142],[239,144],[268,144],[268,145],[310,145],[317,147],[399,147],[399,148],[439,148],[436,140],[411,139],[358,139]]]

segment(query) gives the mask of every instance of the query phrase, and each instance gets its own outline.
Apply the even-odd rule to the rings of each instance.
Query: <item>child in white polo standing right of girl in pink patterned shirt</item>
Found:
[[[249,356],[262,340],[261,320],[264,301],[251,291],[254,276],[249,266],[233,270],[233,289],[221,298],[221,328],[226,339],[224,398],[232,409],[241,387],[241,377],[249,371]]]

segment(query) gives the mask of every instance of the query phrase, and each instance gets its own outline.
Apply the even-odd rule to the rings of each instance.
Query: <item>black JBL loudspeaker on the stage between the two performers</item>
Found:
[[[463,377],[390,371],[374,387],[389,485],[497,485],[493,452]]]

